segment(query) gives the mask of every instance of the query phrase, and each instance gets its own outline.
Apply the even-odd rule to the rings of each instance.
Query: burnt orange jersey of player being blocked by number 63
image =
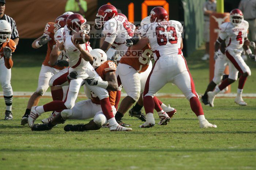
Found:
[[[153,52],[148,44],[138,51],[132,51],[129,47],[126,54],[121,58],[120,63],[127,64],[137,72],[142,73],[147,70],[151,55],[153,55]]]

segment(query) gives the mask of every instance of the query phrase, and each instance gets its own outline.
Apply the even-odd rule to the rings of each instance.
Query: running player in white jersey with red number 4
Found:
[[[214,98],[216,94],[237,80],[238,72],[241,73],[241,76],[238,82],[235,103],[239,105],[247,105],[242,99],[242,91],[247,77],[251,76],[251,70],[241,57],[243,47],[249,57],[255,61],[255,55],[253,55],[251,49],[249,49],[249,45],[255,48],[255,43],[250,42],[247,38],[248,28],[249,24],[244,20],[244,15],[239,9],[233,9],[230,12],[230,22],[225,22],[220,26],[221,32],[215,43],[214,56],[215,58],[218,58],[219,46],[225,40],[227,46],[225,54],[233,66],[231,66],[229,77],[222,81],[221,85],[217,86],[213,92],[207,92],[208,101],[211,107],[214,107]]]

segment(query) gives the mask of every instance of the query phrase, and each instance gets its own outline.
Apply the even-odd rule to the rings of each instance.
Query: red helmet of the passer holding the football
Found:
[[[74,13],[68,16],[66,25],[70,31],[84,32],[88,34],[90,32],[90,25],[86,24],[86,19],[79,13]]]

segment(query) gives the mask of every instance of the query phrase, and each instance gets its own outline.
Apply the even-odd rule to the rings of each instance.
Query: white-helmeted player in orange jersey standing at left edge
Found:
[[[12,119],[11,67],[13,65],[12,53],[16,49],[16,44],[11,39],[11,34],[11,24],[0,20],[0,81],[6,105],[5,120]]]

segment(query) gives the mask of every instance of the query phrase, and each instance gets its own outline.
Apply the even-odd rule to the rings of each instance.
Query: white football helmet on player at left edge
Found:
[[[12,27],[5,20],[0,20],[0,43],[9,42],[11,39]]]

